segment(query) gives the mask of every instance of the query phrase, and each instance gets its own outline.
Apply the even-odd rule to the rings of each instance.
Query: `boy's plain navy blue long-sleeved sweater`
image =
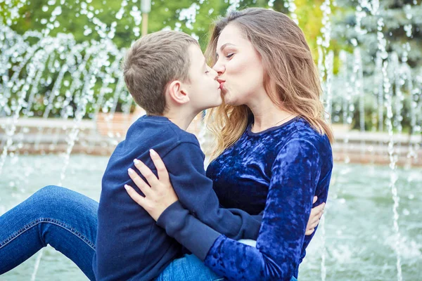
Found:
[[[139,191],[127,174],[129,167],[137,171],[133,164],[135,158],[156,174],[149,155],[151,148],[167,166],[183,210],[190,210],[192,217],[203,221],[203,226],[235,240],[257,238],[262,216],[219,207],[212,181],[205,175],[204,155],[197,138],[166,117],[143,116],[117,145],[103,176],[93,260],[97,280],[152,280],[181,255],[181,245],[124,190],[124,184],[129,184]],[[167,219],[167,224],[172,224],[172,218]],[[207,235],[206,231],[198,231]],[[201,256],[207,254],[214,240],[212,236],[204,251],[198,250]]]

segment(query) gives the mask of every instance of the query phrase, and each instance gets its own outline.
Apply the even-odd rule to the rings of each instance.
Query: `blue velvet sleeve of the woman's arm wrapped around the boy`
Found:
[[[256,248],[224,235],[217,236],[215,230],[205,228],[188,214],[177,218],[178,221],[172,220],[170,217],[174,214],[170,214],[167,218],[171,222],[162,221],[162,226],[167,234],[204,259],[206,266],[229,280],[290,280],[300,261],[320,173],[319,153],[312,143],[295,139],[284,145],[272,166]],[[174,213],[170,208],[167,211]],[[186,224],[191,224],[189,230],[184,228]],[[185,230],[181,237],[180,233]],[[210,241],[201,237],[217,238],[206,249]],[[207,254],[204,256],[204,253]]]

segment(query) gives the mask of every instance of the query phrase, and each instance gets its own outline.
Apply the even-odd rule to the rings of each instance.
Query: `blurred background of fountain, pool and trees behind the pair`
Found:
[[[302,28],[335,133],[299,280],[421,280],[421,0],[0,0],[0,214],[44,185],[98,200],[108,156],[143,114],[122,79],[127,48],[164,29],[205,51],[212,21],[245,7]],[[189,130],[207,152],[201,116]],[[87,278],[47,247],[0,280]]]

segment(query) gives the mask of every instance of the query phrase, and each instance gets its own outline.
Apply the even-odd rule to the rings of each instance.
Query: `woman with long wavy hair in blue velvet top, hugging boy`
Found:
[[[168,235],[218,275],[229,280],[298,277],[312,239],[305,237],[312,197],[326,201],[333,167],[333,135],[324,121],[319,77],[305,37],[286,15],[248,8],[217,22],[207,55],[225,102],[208,116],[218,137],[218,157],[207,176],[224,207],[250,214],[264,209],[256,248],[230,240],[188,214],[156,154],[151,157],[160,180],[139,164],[151,188],[132,175],[145,197],[132,187],[126,186],[127,191]],[[198,230],[186,236],[187,226]]]

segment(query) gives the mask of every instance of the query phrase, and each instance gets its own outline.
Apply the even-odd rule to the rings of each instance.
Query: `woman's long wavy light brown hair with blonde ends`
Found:
[[[266,8],[232,11],[215,21],[205,51],[208,63],[216,63],[219,34],[234,24],[260,54],[264,66],[264,89],[283,110],[300,115],[333,142],[333,132],[321,103],[321,82],[312,53],[300,27],[287,15]],[[207,110],[205,123],[215,134],[211,159],[236,143],[245,131],[251,111],[246,105],[227,105]]]

